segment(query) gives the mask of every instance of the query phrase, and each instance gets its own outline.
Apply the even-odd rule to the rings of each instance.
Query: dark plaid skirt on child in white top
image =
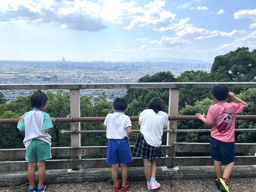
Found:
[[[155,158],[161,157],[161,146],[153,147],[147,144],[144,136],[140,133],[135,143],[132,154],[135,157],[141,157],[143,159],[148,159],[149,161],[154,161]]]

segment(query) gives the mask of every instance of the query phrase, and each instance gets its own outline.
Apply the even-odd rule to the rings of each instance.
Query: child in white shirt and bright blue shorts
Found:
[[[107,130],[108,149],[107,163],[112,164],[112,178],[114,181],[114,191],[121,187],[122,191],[127,191],[129,181],[127,181],[127,164],[133,161],[129,139],[132,138],[132,123],[130,118],[124,114],[128,103],[124,98],[116,98],[113,102],[113,114],[108,114],[104,121],[104,129]],[[117,170],[122,169],[122,180],[118,180]]]

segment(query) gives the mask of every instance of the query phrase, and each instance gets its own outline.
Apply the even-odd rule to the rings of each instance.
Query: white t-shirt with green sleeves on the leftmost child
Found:
[[[42,112],[40,109],[34,108],[30,112],[26,112],[20,118],[18,129],[25,131],[23,143],[27,148],[33,139],[40,139],[46,143],[52,144],[51,136],[45,133],[46,129],[53,128],[52,120],[49,114]]]

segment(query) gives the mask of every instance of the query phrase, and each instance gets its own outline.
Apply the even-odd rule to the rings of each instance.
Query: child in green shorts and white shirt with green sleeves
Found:
[[[25,132],[23,143],[26,147],[26,161],[29,162],[27,171],[29,178],[30,192],[44,192],[46,185],[45,179],[45,160],[52,158],[51,155],[51,136],[49,132],[55,123],[55,118],[50,118],[46,110],[48,106],[48,97],[38,91],[30,98],[33,110],[26,112],[20,117],[18,129]],[[35,186],[35,168],[38,167],[39,184]]]

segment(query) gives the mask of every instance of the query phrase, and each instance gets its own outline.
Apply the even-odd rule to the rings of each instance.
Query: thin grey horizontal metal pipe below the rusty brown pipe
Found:
[[[256,129],[235,129],[236,132],[256,132]],[[133,133],[139,133],[140,130],[132,130]],[[169,129],[163,130],[164,133],[196,133],[196,132],[211,132],[211,129]],[[97,131],[61,131],[61,134],[91,134],[91,133],[106,133],[105,130]]]

